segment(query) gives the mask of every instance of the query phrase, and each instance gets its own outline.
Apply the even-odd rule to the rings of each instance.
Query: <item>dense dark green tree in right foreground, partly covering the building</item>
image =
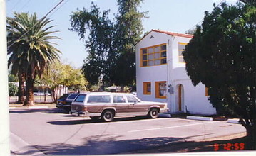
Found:
[[[183,56],[193,84],[209,88],[217,113],[240,118],[255,148],[255,2],[223,3],[205,12]]]

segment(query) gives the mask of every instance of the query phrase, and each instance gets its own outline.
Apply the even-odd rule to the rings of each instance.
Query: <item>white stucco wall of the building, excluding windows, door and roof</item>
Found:
[[[153,38],[152,38],[153,36]],[[170,113],[215,114],[215,108],[205,96],[205,85],[194,87],[185,71],[185,63],[178,62],[178,43],[188,43],[190,38],[167,35],[151,31],[136,45],[137,96],[143,101],[168,102]],[[167,43],[167,65],[140,67],[140,49]],[[174,93],[166,99],[155,98],[155,82],[166,81]],[[151,82],[151,94],[143,94],[143,82]],[[178,86],[182,84],[181,111],[178,109]]]

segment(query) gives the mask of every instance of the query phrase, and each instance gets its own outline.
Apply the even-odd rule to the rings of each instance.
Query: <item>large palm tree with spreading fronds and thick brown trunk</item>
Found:
[[[51,21],[45,17],[37,19],[36,13],[14,13],[14,18],[7,18],[8,66],[11,65],[13,74],[19,74],[20,82],[22,77],[26,81],[24,106],[34,105],[36,76],[41,78],[52,62],[59,61],[61,52],[53,47],[56,43],[49,41],[59,39],[50,35],[58,31],[48,31],[54,26],[46,27]]]

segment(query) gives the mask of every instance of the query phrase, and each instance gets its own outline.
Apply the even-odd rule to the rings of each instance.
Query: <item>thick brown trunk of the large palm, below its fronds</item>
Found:
[[[34,106],[33,87],[34,79],[29,75],[26,79],[26,99],[23,106]]]

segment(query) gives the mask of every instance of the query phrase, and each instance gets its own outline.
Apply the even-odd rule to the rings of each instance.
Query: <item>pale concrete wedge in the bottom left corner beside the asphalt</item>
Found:
[[[19,136],[11,133],[11,152],[14,155],[45,155],[40,150],[36,149],[34,146],[26,143],[24,140],[19,138]]]

